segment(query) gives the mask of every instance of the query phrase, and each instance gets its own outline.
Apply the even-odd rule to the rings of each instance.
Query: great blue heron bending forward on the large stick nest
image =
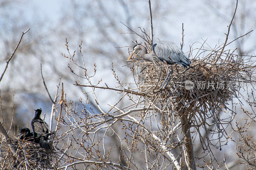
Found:
[[[156,62],[156,60],[160,60],[164,62],[166,65],[173,65],[175,63],[182,65],[184,68],[187,66],[189,67],[191,62],[189,58],[184,54],[184,52],[174,43],[169,41],[158,41],[156,44],[153,45],[153,49],[151,53],[147,54],[147,49],[137,43],[133,47],[132,54],[128,58],[128,60],[132,57],[134,53],[137,51],[142,50],[141,56],[144,60],[150,61],[150,62]],[[172,68],[172,67],[171,67]],[[171,71],[171,74],[173,73],[173,69]],[[167,85],[169,77],[170,70],[167,67],[167,76],[164,80],[163,85],[160,87],[162,89],[164,85]],[[166,82],[167,80],[167,82]],[[165,83],[166,82],[166,83]]]

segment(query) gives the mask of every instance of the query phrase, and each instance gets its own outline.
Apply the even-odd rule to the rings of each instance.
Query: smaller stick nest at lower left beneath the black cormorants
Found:
[[[8,139],[16,149],[16,157],[19,157],[23,162],[19,162],[11,152],[7,141],[1,141],[0,153],[1,164],[3,169],[56,169],[52,159],[54,152],[49,149],[40,148],[38,144],[28,142],[26,140]],[[51,146],[51,144],[50,144]]]

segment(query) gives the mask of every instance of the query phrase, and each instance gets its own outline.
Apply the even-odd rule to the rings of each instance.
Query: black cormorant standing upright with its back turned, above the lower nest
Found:
[[[35,117],[32,119],[31,125],[34,133],[37,134],[37,137],[40,138],[39,145],[41,148],[44,149],[50,149],[50,145],[47,142],[47,139],[50,135],[49,130],[48,130],[48,125],[47,123],[44,122],[43,119],[40,118],[42,109],[37,109],[35,110]]]

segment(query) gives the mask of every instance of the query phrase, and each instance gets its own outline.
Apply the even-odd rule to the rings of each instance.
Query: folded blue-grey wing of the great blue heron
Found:
[[[153,49],[161,60],[165,60],[170,63],[179,63],[186,66],[191,64],[184,52],[173,42],[158,41],[154,44]]]

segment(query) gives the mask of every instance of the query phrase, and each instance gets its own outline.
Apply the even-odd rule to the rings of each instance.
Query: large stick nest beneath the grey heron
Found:
[[[221,106],[227,108],[227,102],[237,97],[239,89],[246,86],[248,76],[252,78],[255,66],[250,65],[250,59],[239,59],[233,53],[222,53],[221,58],[226,59],[220,58],[215,63],[218,52],[212,53],[202,59],[191,59],[190,56],[189,69],[177,64],[166,66],[161,62],[154,64],[136,58],[132,61],[135,81],[140,92],[148,94],[147,100],[159,106],[162,113],[172,110],[175,115],[195,114],[215,112]],[[170,71],[172,67],[173,73],[168,85],[158,90],[167,76],[166,67]],[[252,79],[251,82],[255,82],[255,78]]]

